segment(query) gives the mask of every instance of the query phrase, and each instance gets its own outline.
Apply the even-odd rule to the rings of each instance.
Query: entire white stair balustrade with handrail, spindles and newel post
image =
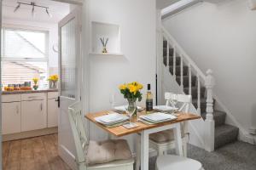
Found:
[[[214,130],[215,130],[215,122],[213,119],[213,91],[212,88],[215,85],[215,79],[212,76],[212,70],[207,70],[207,76],[201,71],[201,69],[195,65],[195,62],[189,57],[188,54],[181,48],[181,46],[177,43],[174,37],[166,31],[166,28],[164,26],[161,26],[163,37],[167,40],[167,51],[166,51],[166,66],[170,66],[169,63],[169,42],[172,42],[172,48],[173,48],[173,77],[176,79],[176,52],[179,52],[179,55],[181,57],[181,88],[183,88],[183,58],[187,60],[187,63],[189,65],[189,94],[191,95],[191,66],[196,71],[196,77],[198,81],[198,87],[197,87],[197,111],[198,114],[201,115],[201,82],[200,77],[204,81],[204,85],[207,88],[207,117],[205,120],[205,134],[204,134],[204,141],[205,141],[205,150],[212,151],[214,150]],[[169,69],[168,69],[169,70]]]

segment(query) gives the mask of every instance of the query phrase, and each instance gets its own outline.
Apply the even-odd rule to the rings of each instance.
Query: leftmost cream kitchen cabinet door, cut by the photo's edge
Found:
[[[20,102],[2,103],[2,133],[20,133]]]

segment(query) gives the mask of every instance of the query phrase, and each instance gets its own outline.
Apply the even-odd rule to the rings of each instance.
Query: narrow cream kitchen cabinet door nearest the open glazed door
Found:
[[[55,99],[48,99],[48,121],[47,127],[57,127],[58,126],[58,102]]]

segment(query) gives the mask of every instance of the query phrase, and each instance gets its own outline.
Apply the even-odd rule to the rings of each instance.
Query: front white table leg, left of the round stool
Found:
[[[148,170],[148,131],[141,133],[141,170]]]

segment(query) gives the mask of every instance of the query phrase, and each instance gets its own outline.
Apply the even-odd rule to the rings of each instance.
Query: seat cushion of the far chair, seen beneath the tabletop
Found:
[[[185,135],[184,135],[183,130],[182,130],[182,138],[184,136]],[[170,141],[174,140],[173,129],[160,131],[158,133],[152,133],[152,134],[149,135],[149,139],[153,140],[156,143],[170,142]]]

